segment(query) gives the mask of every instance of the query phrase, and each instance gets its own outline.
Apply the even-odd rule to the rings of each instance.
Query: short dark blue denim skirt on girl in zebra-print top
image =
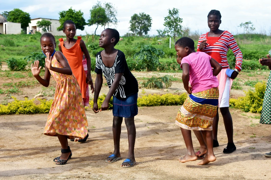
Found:
[[[121,99],[113,96],[113,116],[132,118],[137,114],[137,93]]]

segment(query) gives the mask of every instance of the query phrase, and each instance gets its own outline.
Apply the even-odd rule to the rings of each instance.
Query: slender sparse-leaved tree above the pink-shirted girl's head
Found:
[[[169,15],[164,18],[164,21],[164,32],[167,33],[167,35],[172,36],[174,42],[176,42],[175,38],[182,35],[183,19],[179,17],[179,9],[169,9]]]

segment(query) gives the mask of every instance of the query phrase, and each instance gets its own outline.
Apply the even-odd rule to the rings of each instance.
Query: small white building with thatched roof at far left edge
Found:
[[[21,34],[21,23],[7,22],[0,14],[0,34]]]

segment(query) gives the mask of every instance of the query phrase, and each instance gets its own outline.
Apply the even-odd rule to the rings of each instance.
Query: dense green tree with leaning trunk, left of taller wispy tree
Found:
[[[92,9],[90,10],[90,18],[88,20],[88,25],[97,25],[94,34],[96,35],[96,30],[99,25],[103,26],[107,23],[107,16],[105,14],[105,9],[101,6],[101,3],[98,1],[98,3],[94,6],[92,6]]]

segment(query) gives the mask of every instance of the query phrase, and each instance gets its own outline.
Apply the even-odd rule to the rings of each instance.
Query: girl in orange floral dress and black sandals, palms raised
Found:
[[[64,55],[55,51],[56,40],[50,33],[44,33],[40,38],[41,49],[45,58],[44,78],[40,77],[39,61],[31,64],[33,76],[48,87],[50,77],[56,81],[54,101],[49,111],[44,134],[57,136],[61,144],[61,155],[54,158],[56,165],[63,165],[71,158],[72,152],[67,139],[83,139],[88,134],[88,121],[82,99],[80,86],[72,74]]]

